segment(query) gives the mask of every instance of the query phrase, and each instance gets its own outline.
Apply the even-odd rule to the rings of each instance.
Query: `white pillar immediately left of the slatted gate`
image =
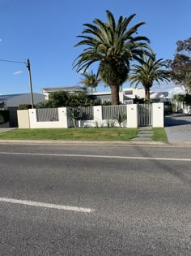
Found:
[[[138,128],[138,104],[127,105],[127,127]]]

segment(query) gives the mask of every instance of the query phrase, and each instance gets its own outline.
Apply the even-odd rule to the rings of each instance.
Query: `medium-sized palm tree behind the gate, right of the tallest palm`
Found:
[[[145,89],[145,100],[150,100],[150,89],[155,82],[159,84],[159,81],[169,81],[169,72],[165,69],[161,69],[165,66],[163,59],[155,59],[155,54],[150,57],[143,56],[140,64],[133,65],[132,73],[129,75],[130,85],[134,85],[137,88],[139,84]]]

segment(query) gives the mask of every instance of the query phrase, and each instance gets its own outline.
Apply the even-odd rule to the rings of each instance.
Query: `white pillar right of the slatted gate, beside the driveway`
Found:
[[[152,103],[152,126],[163,127],[163,102]]]

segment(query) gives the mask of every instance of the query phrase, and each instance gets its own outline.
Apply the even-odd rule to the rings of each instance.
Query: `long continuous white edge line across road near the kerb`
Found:
[[[184,161],[191,162],[191,158],[146,158],[116,155],[97,155],[97,154],[47,154],[47,153],[24,153],[24,152],[0,152],[0,154],[19,154],[19,155],[40,155],[55,157],[78,157],[78,158],[114,158],[114,159],[135,159],[135,160],[163,160],[163,161]]]

